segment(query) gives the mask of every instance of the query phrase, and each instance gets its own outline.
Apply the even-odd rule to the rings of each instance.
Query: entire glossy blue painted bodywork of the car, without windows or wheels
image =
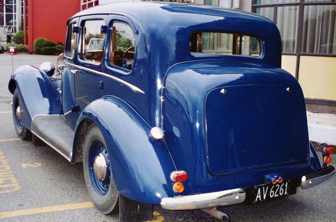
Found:
[[[81,57],[79,25],[61,80],[23,66],[9,88],[19,88],[28,129],[37,115],[64,114],[75,130],[73,163],[80,160],[82,123],[95,122],[124,196],[159,204],[178,195],[170,180],[174,170],[187,172],[182,195],[189,195],[260,185],[274,173],[300,180],[321,167],[309,144],[302,90],[280,68],[280,34],[270,20],[217,7],[142,2],[94,7],[68,24],[88,19],[103,19],[109,28],[100,64]],[[133,31],[131,71],[110,63],[113,22]],[[261,54],[190,53],[190,34],[209,31],[253,36]],[[162,140],[150,139],[152,127],[164,131]]]

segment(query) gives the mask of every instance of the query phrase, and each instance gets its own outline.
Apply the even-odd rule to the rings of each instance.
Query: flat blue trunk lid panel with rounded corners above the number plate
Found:
[[[296,88],[284,85],[212,89],[205,101],[210,173],[306,161],[307,135],[299,127],[306,125],[306,119],[300,98]]]

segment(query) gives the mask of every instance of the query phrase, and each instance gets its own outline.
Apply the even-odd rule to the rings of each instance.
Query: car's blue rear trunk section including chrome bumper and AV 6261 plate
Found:
[[[280,68],[180,64],[167,73],[163,98],[165,141],[177,169],[188,175],[183,192],[163,198],[163,208],[263,202],[309,185],[303,176],[314,175],[312,186],[334,173],[332,166],[321,169],[309,143],[302,90]]]

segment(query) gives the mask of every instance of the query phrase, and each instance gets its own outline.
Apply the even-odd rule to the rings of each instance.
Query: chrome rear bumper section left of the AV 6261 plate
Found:
[[[203,209],[242,203],[245,198],[245,190],[238,188],[189,196],[164,197],[161,206],[171,210]]]

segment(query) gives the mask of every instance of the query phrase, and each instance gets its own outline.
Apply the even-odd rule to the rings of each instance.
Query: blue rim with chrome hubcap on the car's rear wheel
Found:
[[[91,144],[89,173],[95,191],[101,196],[105,195],[110,187],[111,168],[107,150],[100,140]]]

